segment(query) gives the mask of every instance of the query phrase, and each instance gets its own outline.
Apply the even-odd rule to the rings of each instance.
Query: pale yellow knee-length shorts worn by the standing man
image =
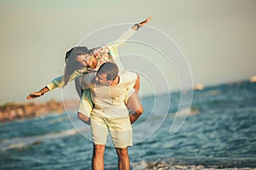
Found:
[[[106,144],[109,131],[115,148],[132,146],[132,128],[129,116],[107,118],[91,114],[90,129],[93,144]]]

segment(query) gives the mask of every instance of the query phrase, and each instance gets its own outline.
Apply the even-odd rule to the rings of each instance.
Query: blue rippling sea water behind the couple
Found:
[[[164,100],[154,105],[165,96],[170,106]],[[179,98],[143,98],[144,113],[133,125],[135,144],[129,148],[132,169],[256,168],[256,83],[194,91],[189,116],[189,108],[177,112]],[[184,122],[170,133],[175,117]],[[91,152],[90,127],[74,112],[0,124],[0,169],[90,169]],[[117,169],[111,141],[105,169]]]

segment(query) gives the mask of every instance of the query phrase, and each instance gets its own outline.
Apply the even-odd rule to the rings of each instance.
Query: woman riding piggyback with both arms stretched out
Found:
[[[79,113],[84,114],[85,116],[90,117],[90,111],[93,107],[92,102],[90,101],[90,93],[89,91],[82,92],[80,89],[81,83],[79,82],[79,77],[84,76],[84,74],[95,72],[99,69],[99,67],[107,62],[115,62],[119,65],[119,69],[122,70],[122,65],[119,62],[119,54],[118,47],[123,44],[129,37],[131,37],[140,27],[146,25],[151,17],[148,17],[146,20],[139,24],[135,24],[128,31],[122,34],[117,40],[108,43],[106,46],[100,48],[88,49],[86,47],[74,47],[70,49],[66,54],[66,68],[64,76],[56,77],[52,82],[50,82],[47,86],[39,90],[38,92],[29,94],[26,99],[35,99],[38,98],[45,93],[55,89],[55,88],[64,88],[67,85],[67,82],[71,82],[76,79],[76,88],[81,97],[79,104]],[[139,90],[139,83],[134,87],[135,92],[137,94]],[[137,114],[142,114],[143,108],[141,104],[137,104],[138,99],[131,98],[127,99],[127,103],[129,109],[134,111]],[[136,103],[136,106],[133,105]],[[139,107],[137,106],[139,105]],[[82,116],[79,114],[79,116]],[[80,117],[79,117],[80,118]]]

